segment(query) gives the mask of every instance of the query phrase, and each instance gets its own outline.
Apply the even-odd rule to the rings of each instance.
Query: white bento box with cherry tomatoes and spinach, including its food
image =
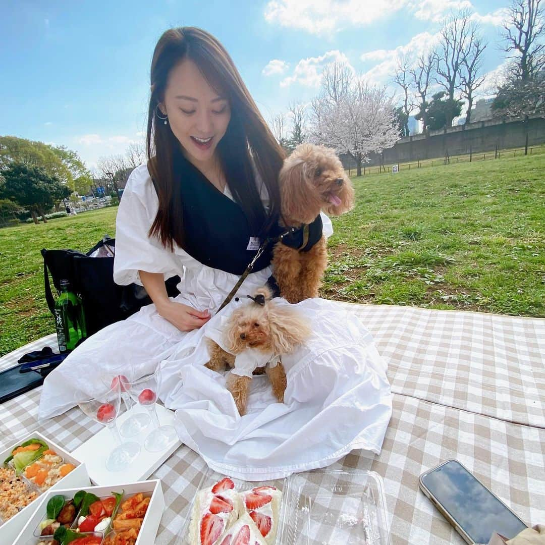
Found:
[[[50,490],[14,545],[154,543],[164,510],[159,480]]]

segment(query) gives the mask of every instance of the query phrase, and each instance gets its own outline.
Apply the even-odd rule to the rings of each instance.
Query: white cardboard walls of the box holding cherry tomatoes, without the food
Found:
[[[34,530],[44,518],[44,515],[47,512],[47,502],[50,500],[51,496],[62,494],[66,497],[73,498],[74,494],[78,492],[78,490],[92,492],[99,498],[111,496],[112,492],[124,492],[122,501],[126,500],[128,496],[138,494],[138,492],[143,492],[144,495],[151,494],[152,499],[149,501],[148,510],[146,511],[146,515],[142,521],[140,532],[138,532],[136,545],[151,545],[155,542],[155,536],[157,535],[159,524],[161,522],[163,512],[165,511],[165,498],[161,488],[161,481],[159,480],[132,482],[125,485],[87,486],[70,489],[63,488],[62,490],[53,490],[52,492],[48,490],[46,493],[40,496],[40,498],[43,497],[43,501],[41,501],[33,516],[28,520],[19,536],[17,536],[17,539],[14,541],[13,545],[28,545],[28,542],[33,539],[38,543],[40,538],[34,536]],[[7,543],[8,542],[6,542],[6,544]],[[4,545],[3,541],[2,545]]]

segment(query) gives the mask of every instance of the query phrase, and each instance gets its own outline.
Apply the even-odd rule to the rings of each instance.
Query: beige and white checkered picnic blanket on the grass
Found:
[[[341,303],[340,303],[341,304]],[[348,304],[347,304],[348,305]],[[393,413],[380,456],[353,451],[332,466],[384,480],[393,545],[462,545],[420,492],[419,475],[457,458],[528,524],[545,523],[545,319],[348,305],[388,362]],[[54,336],[0,359],[0,369]],[[73,450],[100,429],[77,408],[37,421],[40,389],[0,405],[0,446],[38,429]],[[186,446],[154,474],[166,510],[156,538],[174,544],[206,471]]]

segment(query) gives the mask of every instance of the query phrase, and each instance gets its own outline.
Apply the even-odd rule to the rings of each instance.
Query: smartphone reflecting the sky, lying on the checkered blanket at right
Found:
[[[457,460],[423,473],[420,488],[468,543],[486,545],[493,532],[511,539],[528,528]]]

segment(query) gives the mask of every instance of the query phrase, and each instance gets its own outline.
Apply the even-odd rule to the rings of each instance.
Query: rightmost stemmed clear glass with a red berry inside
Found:
[[[157,416],[156,401],[157,392],[161,384],[161,366],[159,365],[154,373],[129,383],[131,397],[149,411],[152,418],[154,430],[144,441],[144,447],[149,452],[160,452],[166,450],[172,441],[178,438],[174,426],[161,426]]]

